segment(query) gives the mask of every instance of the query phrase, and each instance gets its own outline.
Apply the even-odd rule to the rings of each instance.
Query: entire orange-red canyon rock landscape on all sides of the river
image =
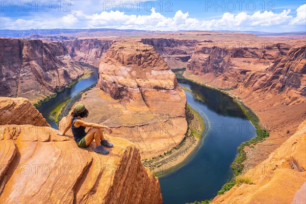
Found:
[[[5,147],[1,158],[5,158],[2,162],[8,166],[0,174],[3,202],[18,199],[27,202],[31,195],[34,200],[38,201],[41,196],[48,202],[86,203],[102,197],[103,203],[161,203],[158,180],[140,160],[163,155],[184,140],[187,100],[171,71],[174,68],[186,68],[184,78],[219,89],[252,109],[270,133],[264,141],[244,149],[243,176],[249,177],[253,184],[237,184],[217,196],[213,203],[290,203],[305,182],[304,39],[177,32],[59,38],[64,40],[61,42],[0,40],[2,96],[26,97],[33,104],[78,80],[88,68],[77,62],[99,67],[97,86],[83,93],[79,103],[89,110],[86,121],[113,127],[114,133],[107,138],[118,144],[118,149],[111,152],[111,159],[106,160],[94,154],[93,144],[88,152],[75,146],[70,132],[68,137],[56,136],[56,131],[49,127],[29,100],[1,97],[0,110],[6,114],[1,116],[6,118],[6,122],[1,119],[4,125],[1,127],[1,144]],[[31,87],[23,89],[23,84],[29,83]],[[18,113],[33,117],[18,121]],[[63,118],[60,129],[65,125],[66,118]],[[23,133],[22,129],[27,126],[38,132]],[[44,133],[43,127],[49,132]],[[65,148],[64,144],[71,148]],[[47,190],[59,185],[60,197],[53,191],[41,192],[38,188],[35,192],[13,194],[13,187],[21,191],[25,178],[33,179],[31,185],[35,185],[33,172],[22,178],[13,168],[47,159],[40,154],[43,145],[54,154],[55,159],[48,160],[52,167],[65,164],[65,158],[70,158],[68,155],[72,151],[78,152],[78,160],[82,162],[79,164],[73,158],[69,161],[78,172],[69,178],[55,175],[56,179],[52,181],[41,174],[39,188]],[[34,152],[33,158],[27,148]],[[115,166],[113,171],[108,172],[101,162]],[[133,167],[129,166],[131,163]],[[261,166],[272,168],[263,173],[258,171]],[[68,182],[57,183],[58,179]],[[17,180],[21,180],[20,184],[15,182]],[[107,183],[107,187],[101,187],[101,181]],[[129,186],[135,182],[139,189]],[[282,186],[289,187],[281,189]],[[67,188],[67,192],[72,193],[64,192]],[[131,194],[125,193],[124,188]],[[150,192],[145,192],[147,189]],[[49,198],[45,194],[50,195]]]

